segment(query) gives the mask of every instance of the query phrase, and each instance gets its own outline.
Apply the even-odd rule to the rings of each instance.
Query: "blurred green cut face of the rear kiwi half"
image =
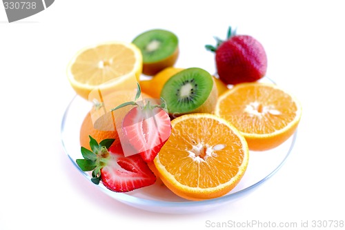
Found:
[[[156,63],[171,56],[178,46],[177,36],[168,30],[148,30],[133,41],[141,50],[143,63]]]

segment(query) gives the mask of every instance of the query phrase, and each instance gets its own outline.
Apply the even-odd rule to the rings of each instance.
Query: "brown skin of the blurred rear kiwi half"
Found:
[[[153,76],[157,74],[158,72],[160,72],[161,70],[164,70],[166,67],[171,67],[175,65],[178,56],[179,56],[179,47],[177,46],[175,52],[173,52],[166,59],[163,59],[155,63],[143,63],[143,74],[148,75],[148,76]]]

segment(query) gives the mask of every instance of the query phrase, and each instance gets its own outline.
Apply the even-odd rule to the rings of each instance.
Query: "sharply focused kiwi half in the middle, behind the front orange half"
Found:
[[[212,113],[217,102],[217,87],[206,70],[190,67],[164,84],[161,98],[172,118],[190,113]]]

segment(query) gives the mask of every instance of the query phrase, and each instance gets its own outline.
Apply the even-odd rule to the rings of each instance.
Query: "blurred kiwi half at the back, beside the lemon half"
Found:
[[[179,56],[179,39],[168,30],[148,30],[135,37],[132,43],[141,50],[143,73],[149,76],[175,65]]]

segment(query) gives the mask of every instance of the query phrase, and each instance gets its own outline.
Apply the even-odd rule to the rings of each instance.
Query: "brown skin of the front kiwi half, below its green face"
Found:
[[[215,112],[215,107],[216,107],[217,98],[218,98],[218,90],[217,90],[217,85],[215,83],[215,79],[213,78],[213,76],[211,77],[213,81],[213,87],[206,101],[202,105],[197,107],[196,109],[193,109],[186,113],[169,112],[169,116],[171,119],[177,118],[178,116],[182,116],[184,114],[193,114],[193,113],[213,114]]]

